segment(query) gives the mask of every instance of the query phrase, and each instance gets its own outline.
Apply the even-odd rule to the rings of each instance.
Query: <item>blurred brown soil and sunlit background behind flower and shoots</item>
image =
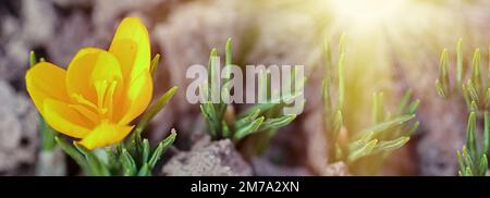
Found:
[[[329,39],[336,49],[343,33],[350,129],[368,125],[373,91],[384,92],[388,108],[395,108],[407,89],[421,101],[415,137],[387,160],[380,174],[457,172],[456,149],[465,140],[467,113],[463,101],[437,96],[439,55],[448,48],[454,69],[456,42],[463,38],[466,62],[481,48],[487,65],[488,0],[1,0],[0,175],[36,175],[46,164],[60,166],[58,175],[79,175],[62,152],[40,152],[38,113],[24,82],[29,51],[65,67],[79,48],[107,49],[121,18],[130,15],[147,25],[152,54],[162,54],[155,96],[180,87],[146,133],[156,143],[171,127],[179,132],[159,175],[191,174],[209,164],[208,175],[348,174],[327,160],[319,108],[323,42]],[[306,66],[305,111],[275,135],[264,156],[242,159],[230,145],[201,148],[206,124],[199,107],[185,100],[192,82],[186,69],[206,64],[212,47],[223,52],[229,37],[237,65]],[[167,163],[175,156],[182,162]]]

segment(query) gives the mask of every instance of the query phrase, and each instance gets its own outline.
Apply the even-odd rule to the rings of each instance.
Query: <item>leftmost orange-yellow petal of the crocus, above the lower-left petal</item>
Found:
[[[66,72],[48,62],[34,65],[25,74],[27,92],[37,110],[42,113],[44,101],[47,98],[68,102],[70,97],[65,87]]]

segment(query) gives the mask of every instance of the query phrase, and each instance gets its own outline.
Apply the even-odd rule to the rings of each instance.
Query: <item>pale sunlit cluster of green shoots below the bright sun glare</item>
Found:
[[[383,160],[393,150],[403,147],[417,129],[419,123],[413,120],[419,101],[411,102],[412,92],[406,91],[399,109],[391,114],[384,110],[383,94],[375,92],[372,125],[362,132],[348,132],[342,114],[345,106],[344,40],[345,36],[342,35],[336,69],[333,69],[329,42],[324,49],[327,72],[322,83],[322,101],[324,131],[329,140],[329,162],[344,162],[352,174],[375,175],[379,172]],[[332,71],[336,71],[336,76]],[[334,82],[338,88],[336,97],[333,96]]]

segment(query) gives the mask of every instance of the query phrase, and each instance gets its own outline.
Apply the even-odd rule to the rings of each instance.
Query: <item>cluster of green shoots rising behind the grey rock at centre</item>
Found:
[[[211,98],[211,91],[208,87],[209,85],[215,84],[213,81],[216,81],[219,75],[219,71],[216,71],[216,67],[213,66],[217,64],[217,58],[218,50],[212,49],[208,65],[210,75],[208,76],[208,82],[206,82],[199,90],[208,94],[208,98]],[[231,84],[232,75],[230,72],[231,64],[231,39],[228,39],[225,45],[225,65],[223,67],[226,76],[224,77],[222,85],[220,85],[222,86],[221,91],[230,92],[233,89]],[[294,72],[292,75],[294,75]],[[270,96],[270,89],[268,88],[270,87],[270,73],[267,72],[267,75],[259,75],[259,77],[265,77],[266,81],[262,82],[268,83],[260,83],[261,81],[259,81],[258,91],[264,91],[264,96]],[[261,141],[255,143],[257,144],[257,151],[264,151],[278,129],[290,124],[296,117],[295,114],[283,115],[282,109],[285,107],[283,101],[290,101],[299,94],[301,92],[293,92],[291,96],[283,97],[283,100],[280,101],[268,100],[268,102],[255,104],[238,114],[235,114],[233,106],[225,103],[221,97],[218,103],[207,100],[200,104],[200,110],[207,120],[208,131],[212,139],[229,138],[237,144],[245,137],[257,135],[260,136],[260,138],[257,139],[260,139]]]

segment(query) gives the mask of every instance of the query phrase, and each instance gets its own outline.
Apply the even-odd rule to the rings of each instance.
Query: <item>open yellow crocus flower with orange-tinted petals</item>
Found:
[[[56,131],[81,139],[87,149],[115,144],[148,107],[154,84],[148,30],[124,18],[108,51],[84,48],[66,70],[39,62],[27,71],[27,91]]]

